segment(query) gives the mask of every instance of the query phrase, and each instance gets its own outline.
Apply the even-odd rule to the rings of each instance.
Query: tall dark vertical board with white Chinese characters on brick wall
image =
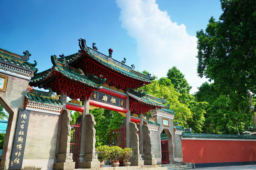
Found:
[[[28,131],[30,111],[20,109],[12,148],[9,169],[21,169]]]

